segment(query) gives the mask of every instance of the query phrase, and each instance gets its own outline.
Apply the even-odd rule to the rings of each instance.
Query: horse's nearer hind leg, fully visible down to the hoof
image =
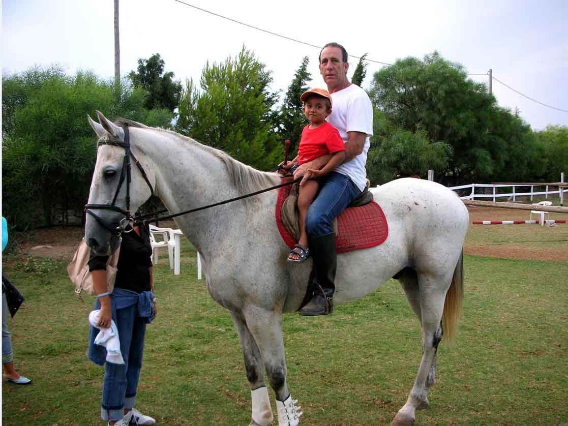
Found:
[[[416,410],[428,407],[428,388],[432,385],[433,380],[433,377],[430,380],[428,380],[428,377],[435,366],[438,343],[440,343],[442,337],[441,319],[450,279],[451,275],[449,277],[436,277],[420,274],[418,277],[422,325],[422,360],[406,404],[396,414],[391,426],[411,425],[414,423]],[[414,295],[416,294],[414,293]]]

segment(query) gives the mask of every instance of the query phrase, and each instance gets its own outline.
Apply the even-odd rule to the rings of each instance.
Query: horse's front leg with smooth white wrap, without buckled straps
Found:
[[[250,383],[252,419],[249,426],[268,426],[272,423],[274,416],[272,415],[268,389],[264,382],[264,362],[262,362],[260,350],[258,350],[258,345],[247,327],[244,316],[239,312],[231,311],[231,318],[239,333],[245,359],[245,370]]]

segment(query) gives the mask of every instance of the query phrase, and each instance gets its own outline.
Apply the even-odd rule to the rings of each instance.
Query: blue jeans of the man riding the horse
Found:
[[[333,232],[332,222],[354,199],[359,188],[345,174],[331,172],[319,181],[318,195],[306,217],[308,237],[320,237]]]

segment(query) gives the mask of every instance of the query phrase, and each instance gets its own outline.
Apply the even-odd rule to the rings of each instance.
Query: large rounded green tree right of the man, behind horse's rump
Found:
[[[452,146],[446,170],[450,180],[486,179],[500,172],[509,147],[492,135],[498,122],[495,98],[484,84],[468,80],[462,65],[437,52],[423,60],[397,60],[374,74],[370,96],[394,126],[423,130],[428,139]]]

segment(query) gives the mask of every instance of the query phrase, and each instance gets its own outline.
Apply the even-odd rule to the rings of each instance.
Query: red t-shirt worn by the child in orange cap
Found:
[[[345,151],[345,143],[335,127],[324,122],[320,127],[311,129],[308,124],[302,130],[302,139],[300,139],[298,148],[298,164],[340,151]]]

